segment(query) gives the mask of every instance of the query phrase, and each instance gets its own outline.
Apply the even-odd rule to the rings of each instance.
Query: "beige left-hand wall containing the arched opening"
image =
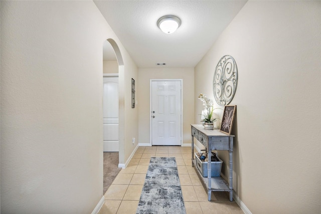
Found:
[[[1,1],[2,213],[91,213],[102,199],[109,38],[122,55],[124,87],[137,68],[93,2]],[[123,111],[128,87],[120,90]],[[137,113],[130,111],[130,136],[138,136]]]

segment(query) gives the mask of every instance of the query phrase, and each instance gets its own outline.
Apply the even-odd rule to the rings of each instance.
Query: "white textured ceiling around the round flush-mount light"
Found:
[[[195,67],[247,1],[94,1],[139,68]],[[182,20],[173,34],[156,26]]]

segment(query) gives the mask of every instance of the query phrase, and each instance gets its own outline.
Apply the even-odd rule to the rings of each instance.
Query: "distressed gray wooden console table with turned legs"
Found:
[[[208,151],[208,157],[211,157],[212,150],[228,150],[229,151],[229,182],[227,183],[222,176],[211,177],[211,158],[208,158],[207,174],[208,177],[203,177],[199,172],[208,189],[208,200],[211,200],[212,191],[228,191],[230,201],[233,200],[233,138],[234,135],[228,135],[220,132],[218,129],[207,130],[203,125],[191,125],[192,132],[192,166],[195,164],[194,159],[194,137],[200,141]]]

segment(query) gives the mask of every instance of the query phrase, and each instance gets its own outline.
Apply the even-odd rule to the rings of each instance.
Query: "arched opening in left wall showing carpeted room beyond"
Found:
[[[103,193],[120,171],[118,166],[124,156],[123,90],[119,87],[119,76],[122,76],[119,71],[123,71],[119,48],[114,40],[107,39],[103,42]]]

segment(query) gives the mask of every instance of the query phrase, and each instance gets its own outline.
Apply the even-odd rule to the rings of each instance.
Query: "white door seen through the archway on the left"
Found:
[[[118,77],[103,78],[104,151],[119,151]]]

